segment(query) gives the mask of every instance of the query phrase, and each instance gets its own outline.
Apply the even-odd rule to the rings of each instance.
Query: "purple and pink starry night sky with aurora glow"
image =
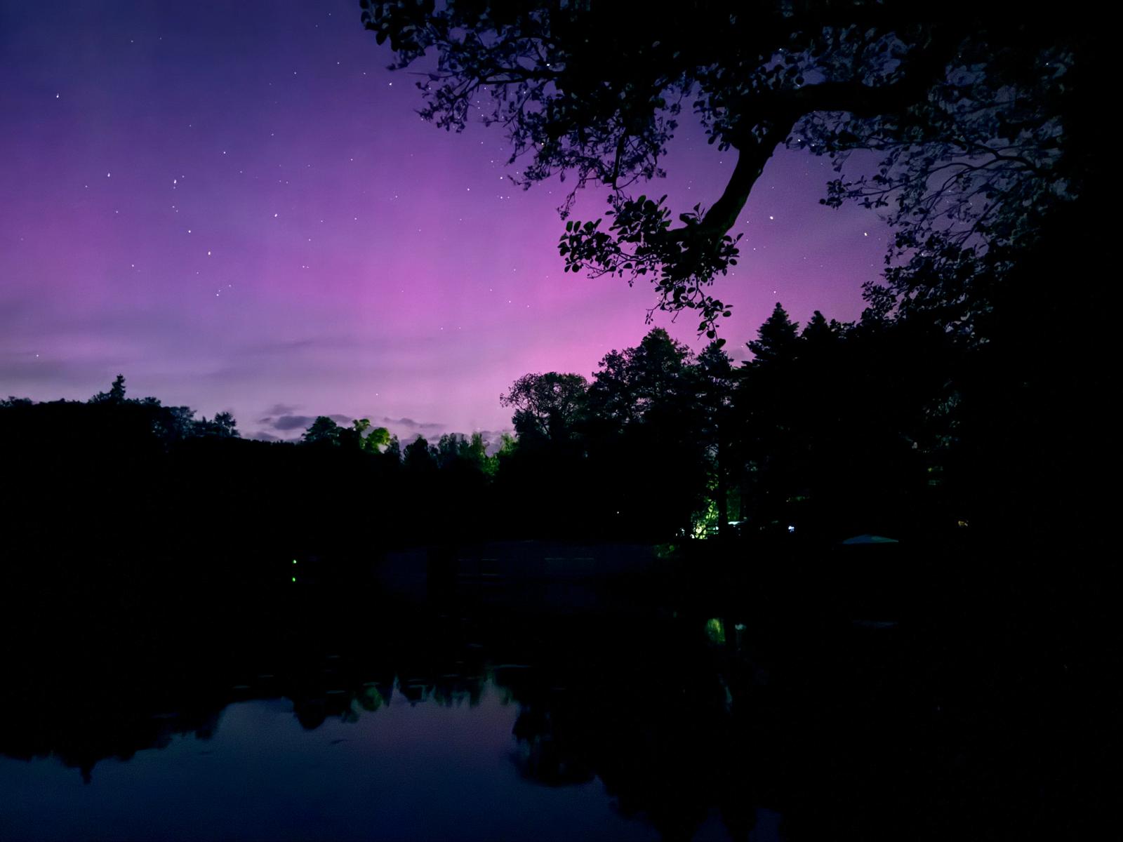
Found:
[[[318,414],[494,433],[520,375],[636,345],[654,293],[563,273],[564,185],[513,187],[501,130],[423,122],[391,61],[354,0],[0,0],[0,394],[85,400],[124,373],[244,436]],[[684,118],[646,189],[675,216],[734,163]],[[831,175],[780,152],[755,187],[714,287],[736,358],[776,301],[861,311],[886,228],[821,207]],[[574,216],[604,208],[586,191]],[[690,313],[656,324],[704,345]]]

